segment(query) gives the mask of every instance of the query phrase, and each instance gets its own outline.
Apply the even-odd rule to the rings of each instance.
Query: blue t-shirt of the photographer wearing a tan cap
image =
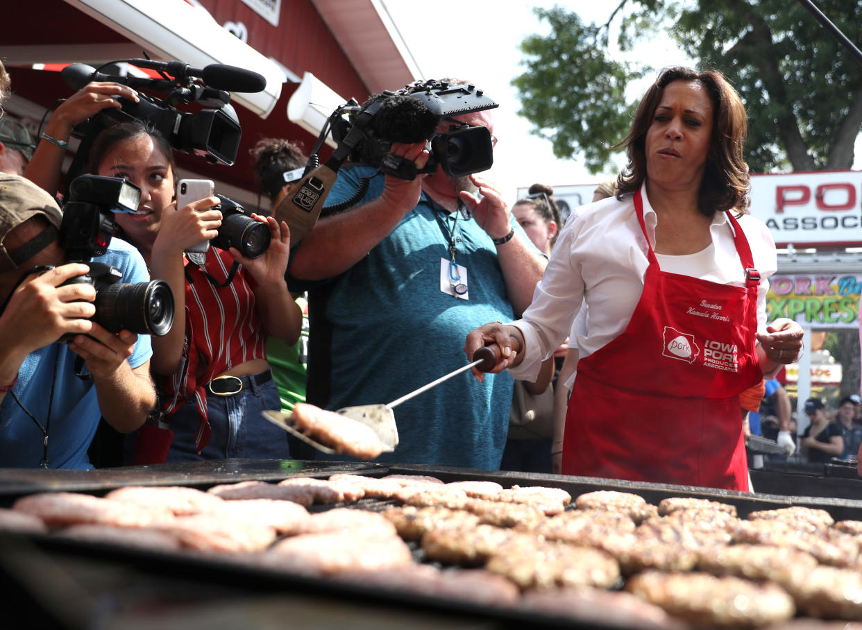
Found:
[[[148,282],[150,279],[141,253],[124,240],[112,239],[108,252],[94,258],[93,262],[120,269],[122,283]],[[133,368],[138,367],[152,355],[150,336],[141,334],[128,363]],[[27,409],[48,431],[50,468],[93,467],[87,457],[87,449],[102,414],[92,379],[82,380],[74,373],[77,357],[66,344],[53,343],[31,352],[24,359],[15,388],[0,404],[0,466],[39,466],[44,438],[40,427],[24,411]],[[13,393],[21,401],[20,405]]]

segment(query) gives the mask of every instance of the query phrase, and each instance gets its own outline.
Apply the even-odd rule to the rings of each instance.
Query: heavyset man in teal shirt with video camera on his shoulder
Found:
[[[462,123],[493,133],[487,109],[440,118],[436,133]],[[422,169],[425,147],[392,142],[390,153]],[[320,281],[309,289],[308,398],[327,409],[390,402],[463,365],[465,332],[526,309],[545,265],[487,179],[439,169],[407,180],[347,164],[327,203],[352,196],[364,177],[359,204],[324,208],[290,266],[292,278]],[[404,402],[400,443],[376,461],[496,470],[512,389],[509,377],[476,387],[460,375]]]

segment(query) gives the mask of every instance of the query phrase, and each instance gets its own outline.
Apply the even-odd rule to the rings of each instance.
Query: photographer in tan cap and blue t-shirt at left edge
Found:
[[[100,415],[128,433],[155,404],[150,337],[110,333],[91,321],[97,290],[74,282],[89,267],[66,264],[60,225],[45,190],[0,176],[2,466],[92,468],[87,448]],[[122,240],[95,261],[122,271],[124,282],[148,279],[141,254]],[[70,342],[59,343],[65,335]]]

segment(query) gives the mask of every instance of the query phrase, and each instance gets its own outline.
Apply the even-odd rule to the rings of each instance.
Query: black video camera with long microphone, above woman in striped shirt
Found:
[[[98,72],[106,65],[128,63],[159,71],[162,78],[141,78]],[[74,132],[82,138],[81,147],[69,172],[72,178],[82,172],[96,135],[114,122],[137,119],[148,122],[164,135],[171,146],[203,156],[215,164],[233,165],[240,147],[240,122],[230,103],[230,91],[259,92],[266,79],[257,72],[232,65],[210,64],[203,69],[192,68],[180,61],[153,59],[120,59],[94,69],[90,65],[67,65],[60,75],[70,87],[80,90],[91,81],[110,81],[138,90],[140,102],[118,98],[120,109],[103,109],[99,114],[78,125]],[[195,82],[202,78],[204,85]],[[141,90],[166,93],[156,98]],[[226,91],[229,90],[229,91]],[[178,104],[200,103],[204,108],[191,113],[177,109]]]

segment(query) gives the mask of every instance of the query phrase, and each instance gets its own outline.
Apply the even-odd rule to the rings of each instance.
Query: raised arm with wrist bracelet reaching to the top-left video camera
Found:
[[[72,128],[103,109],[120,109],[121,105],[116,97],[128,98],[135,103],[141,100],[138,93],[127,85],[93,82],[84,85],[60,103],[45,126],[46,137],[37,140],[38,144],[24,171],[24,177],[42,190],[56,194],[59,190],[63,159],[66,157],[66,150],[62,145],[68,143],[72,137]]]

